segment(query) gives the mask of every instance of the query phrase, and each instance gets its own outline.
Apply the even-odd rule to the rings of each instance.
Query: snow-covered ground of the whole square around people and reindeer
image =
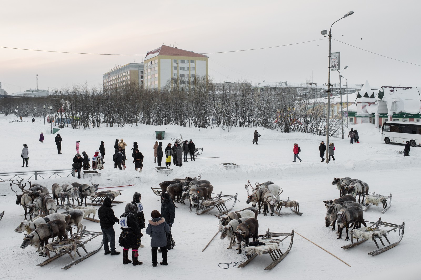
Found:
[[[177,126],[150,127],[146,125],[126,126],[96,129],[60,130],[63,138],[62,154],[58,155],[54,137],[50,135],[50,125],[43,124],[37,119],[35,124],[32,118],[24,118],[25,122],[12,122],[17,119],[12,116],[0,117],[2,143],[4,148],[0,157],[1,172],[20,172],[35,170],[71,169],[72,158],[75,156],[76,140],[80,140],[80,152],[86,151],[92,157],[100,142],[105,142],[105,169],[101,177],[93,178],[92,182],[99,183],[101,187],[132,185],[118,188],[122,195],[119,201],[131,201],[135,191],[142,194],[145,217],[150,217],[152,210],[160,210],[159,198],[152,193],[151,187],[158,187],[158,183],[175,177],[197,176],[202,174],[203,179],[210,180],[214,186],[214,193],[222,191],[223,194],[235,195],[238,193],[239,201],[233,210],[239,210],[249,205],[245,203],[245,184],[250,180],[255,182],[274,181],[283,188],[282,198],[289,197],[298,200],[300,217],[289,209],[282,209],[282,217],[259,214],[259,233],[263,234],[268,228],[272,232],[290,232],[295,230],[299,234],[312,240],[326,250],[335,254],[352,267],[340,262],[338,259],[322,251],[309,241],[298,235],[294,236],[293,247],[288,256],[271,271],[264,270],[271,259],[269,255],[258,256],[245,268],[221,269],[219,263],[242,261],[237,251],[227,250],[228,240],[220,240],[219,234],[210,246],[202,252],[203,247],[216,233],[218,219],[210,214],[196,215],[189,213],[187,206],[178,206],[176,219],[172,228],[173,238],[176,241],[174,250],[168,252],[168,267],[153,268],[149,247],[149,236],[144,236],[145,248],[139,249],[139,259],[144,262],[140,267],[122,264],[122,255],[104,256],[103,251],[84,260],[68,270],[60,270],[64,264],[71,261],[69,256],[61,256],[44,267],[35,265],[44,261],[34,248],[22,250],[23,234],[14,232],[23,217],[23,209],[17,206],[15,196],[10,190],[8,182],[0,183],[0,212],[5,216],[0,221],[0,279],[27,279],[32,275],[35,279],[45,277],[47,273],[59,273],[60,277],[69,279],[79,276],[87,279],[115,279],[116,277],[133,277],[133,273],[141,273],[141,277],[156,279],[157,273],[168,279],[197,279],[205,277],[215,279],[222,274],[226,279],[252,278],[258,275],[267,277],[282,277],[289,279],[331,279],[334,277],[376,277],[392,279],[397,276],[404,279],[419,279],[418,264],[421,260],[419,248],[421,241],[418,238],[420,227],[420,211],[418,207],[420,189],[417,174],[421,167],[419,147],[411,148],[410,157],[403,157],[398,151],[403,151],[403,145],[386,145],[381,142],[381,134],[372,124],[353,126],[358,129],[360,143],[351,145],[348,132],[345,140],[331,138],[335,143],[336,161],[329,164],[321,163],[318,147],[325,137],[306,135],[302,133],[280,133],[267,129],[258,129],[261,134],[259,145],[251,143],[254,128],[232,128],[230,131],[214,129],[189,129]],[[163,146],[172,143],[171,138],[183,135],[184,140],[192,139],[196,147],[204,147],[203,154],[196,161],[184,163],[182,167],[173,167],[173,174],[169,177],[158,175],[153,169],[154,158],[152,146],[155,143],[155,130],[165,131]],[[40,132],[44,132],[45,141],[38,141]],[[112,163],[113,145],[116,139],[123,138],[128,144],[126,161],[128,167],[124,171],[114,169]],[[139,150],[144,154],[144,169],[142,173],[135,172],[134,164],[130,161],[133,142],[139,143]],[[300,162],[293,161],[293,143],[301,147]],[[29,147],[29,167],[21,167],[21,149],[23,144]],[[165,158],[164,158],[165,159]],[[234,162],[240,168],[225,170],[220,163]],[[163,166],[164,163],[163,163]],[[392,207],[386,214],[381,214],[382,207],[371,206],[364,213],[368,221],[376,221],[379,217],[385,222],[401,224],[405,222],[405,236],[402,242],[378,256],[369,256],[367,253],[376,247],[373,242],[367,241],[362,245],[349,250],[341,249],[349,243],[336,239],[334,232],[325,227],[325,213],[323,201],[338,197],[336,186],[331,185],[334,177],[353,177],[367,182],[370,192],[388,195],[392,193]],[[76,178],[51,178],[37,180],[48,188],[54,182],[89,182]],[[32,180],[34,182],[34,180]],[[104,190],[104,189],[103,189]],[[116,189],[114,189],[116,190]],[[125,203],[113,207],[116,216],[124,212]],[[60,210],[61,211],[61,210]],[[98,223],[83,220],[88,230],[100,231]],[[114,226],[116,239],[120,228]],[[398,232],[391,233],[390,240],[398,238]],[[89,242],[87,250],[93,250],[100,243],[100,237]],[[283,250],[288,247],[283,244]],[[281,248],[281,250],[282,250]],[[117,250],[122,248],[117,244]],[[158,260],[159,260],[158,256]],[[216,276],[218,275],[218,276]],[[418,275],[418,276],[417,276]],[[56,277],[56,276],[55,276]]]

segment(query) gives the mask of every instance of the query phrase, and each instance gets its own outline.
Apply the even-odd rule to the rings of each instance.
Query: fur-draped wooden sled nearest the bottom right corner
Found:
[[[371,222],[368,222],[371,223]],[[380,227],[389,227],[389,230],[384,230],[381,229]],[[399,240],[397,240],[394,243],[390,243],[389,239],[387,238],[387,233],[391,232],[391,231],[396,231],[396,230],[400,230],[400,237]],[[374,250],[370,253],[368,253],[370,256],[376,256],[380,253],[383,253],[384,251],[387,251],[391,248],[393,248],[394,246],[398,245],[400,243],[400,241],[403,238],[403,232],[405,230],[405,222],[402,222],[402,225],[395,225],[395,224],[390,224],[390,223],[386,223],[386,222],[381,222],[381,218],[378,219],[377,222],[372,223],[371,226],[369,227],[364,227],[364,228],[360,228],[357,230],[351,230],[351,244],[342,246],[342,249],[349,249],[352,247],[355,247],[357,245],[360,245],[361,243],[365,242],[366,240],[373,240],[374,243],[377,246],[377,250]],[[384,239],[386,239],[387,243],[389,243],[388,246],[384,245],[384,242],[382,240],[382,238],[384,237]],[[357,238],[357,242],[354,243],[354,238]],[[358,241],[359,238],[362,238],[362,240]],[[380,240],[381,245],[383,245],[382,248],[380,248],[378,246],[378,243],[376,241],[376,238],[378,240]]]

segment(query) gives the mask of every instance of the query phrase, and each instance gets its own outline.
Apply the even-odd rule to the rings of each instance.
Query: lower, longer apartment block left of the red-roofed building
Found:
[[[131,82],[142,87],[143,71],[143,63],[127,63],[123,66],[115,66],[102,75],[102,84],[106,89],[119,88]]]

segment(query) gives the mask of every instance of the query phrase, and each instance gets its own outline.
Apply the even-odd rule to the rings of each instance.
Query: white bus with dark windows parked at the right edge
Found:
[[[421,123],[418,122],[385,122],[381,128],[381,140],[386,144],[406,144],[412,147],[421,145]]]

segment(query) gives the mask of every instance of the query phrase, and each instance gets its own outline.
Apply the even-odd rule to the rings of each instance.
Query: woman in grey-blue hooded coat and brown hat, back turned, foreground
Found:
[[[158,264],[157,251],[158,247],[161,248],[162,253],[162,265],[168,265],[167,258],[167,233],[170,232],[170,227],[165,222],[164,218],[161,218],[159,211],[154,210],[151,213],[152,220],[149,220],[146,234],[151,236],[151,247],[152,247],[152,267],[156,267]]]

